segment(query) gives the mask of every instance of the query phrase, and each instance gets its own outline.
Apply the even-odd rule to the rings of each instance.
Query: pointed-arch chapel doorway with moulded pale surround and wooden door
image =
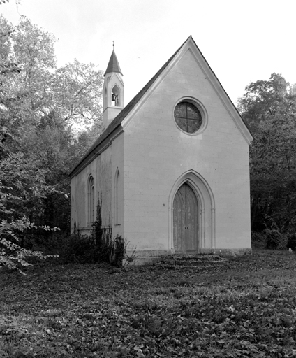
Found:
[[[187,194],[186,194],[187,193]],[[178,206],[177,210],[183,210],[179,208],[179,203],[183,200],[182,196],[189,195],[191,197],[191,202],[194,201],[193,193],[196,197],[197,210],[192,210],[191,208],[186,209],[189,213],[187,215],[192,216],[197,215],[195,218],[195,225],[198,227],[196,233],[196,250],[193,249],[191,243],[188,243],[188,238],[184,240],[186,243],[182,246],[180,250],[179,243],[174,242],[174,228],[176,230],[176,208],[174,216],[174,204]],[[182,204],[181,204],[182,206]],[[191,213],[190,213],[191,211]],[[185,214],[186,215],[186,214]],[[175,220],[175,226],[174,226]],[[178,219],[180,221],[180,219]],[[185,221],[185,223],[183,223]],[[193,220],[194,221],[194,220]],[[215,201],[212,189],[209,187],[209,184],[199,173],[196,171],[186,171],[179,176],[175,181],[172,189],[170,190],[169,201],[168,201],[168,248],[172,252],[211,252],[216,248],[216,230],[215,230]],[[184,225],[185,230],[189,229],[188,224],[186,224],[186,218],[181,220],[182,226]],[[177,224],[179,225],[179,224]],[[192,241],[192,239],[191,239]],[[177,247],[175,247],[177,246]],[[186,249],[187,247],[187,249]],[[176,250],[177,249],[177,250]]]

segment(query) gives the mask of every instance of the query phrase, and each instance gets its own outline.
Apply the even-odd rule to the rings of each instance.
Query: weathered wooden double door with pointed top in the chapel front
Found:
[[[198,199],[188,184],[179,187],[173,205],[176,252],[198,251]]]

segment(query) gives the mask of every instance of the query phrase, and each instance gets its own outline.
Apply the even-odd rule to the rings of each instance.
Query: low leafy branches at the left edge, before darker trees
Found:
[[[4,155],[5,154],[5,155]],[[44,173],[36,162],[22,153],[2,152],[0,161],[0,267],[27,266],[25,257],[44,257],[20,245],[17,233],[36,228],[29,217],[36,215],[38,203],[50,190],[44,185]],[[51,230],[50,227],[43,227]],[[55,230],[57,228],[54,228]],[[20,268],[19,268],[20,269]],[[22,271],[21,271],[22,272]]]

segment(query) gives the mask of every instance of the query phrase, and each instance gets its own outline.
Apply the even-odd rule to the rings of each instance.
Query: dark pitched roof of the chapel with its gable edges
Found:
[[[108,136],[110,136],[112,133],[114,133],[114,131],[120,126],[121,127],[121,122],[123,122],[125,120],[125,118],[128,116],[129,113],[131,113],[131,110],[133,110],[135,108],[135,106],[141,101],[142,97],[148,92],[148,90],[151,88],[152,85],[154,85],[154,83],[156,82],[156,80],[158,80],[158,78],[161,77],[161,74],[165,71],[165,69],[169,66],[169,64],[172,62],[173,59],[175,59],[175,57],[177,57],[177,54],[179,52],[181,52],[182,48],[184,47],[184,45],[187,43],[187,41],[189,41],[191,39],[191,41],[193,41],[193,43],[195,44],[196,48],[198,49],[198,51],[200,52],[198,45],[196,45],[195,41],[193,40],[192,36],[189,36],[186,41],[184,41],[184,43],[182,43],[182,45],[178,48],[178,50],[174,53],[174,55],[172,55],[172,57],[170,57],[168,59],[167,62],[165,62],[165,64],[161,67],[161,69],[151,78],[151,80],[149,80],[149,82],[142,88],[142,90],[140,90],[140,92],[138,92],[138,94],[136,94],[136,96],[126,105],[126,107],[124,107],[123,110],[121,110],[121,112],[119,113],[119,115],[117,115],[117,117],[114,118],[114,120],[112,120],[112,122],[109,124],[109,126],[105,129],[105,131],[103,131],[103,133],[96,139],[96,141],[94,141],[94,144],[91,145],[91,148],[89,148],[89,150],[87,150],[87,152],[85,153],[85,155],[82,157],[82,159],[80,160],[80,162],[72,169],[71,173],[69,173],[69,176],[73,176],[75,175],[75,172],[77,170],[81,169],[84,167],[84,164],[86,164],[86,162],[88,162],[88,157],[91,157],[91,152],[94,151],[95,148],[98,147],[98,145],[100,145],[106,138],[108,138]],[[112,52],[113,55],[113,52]],[[111,55],[111,57],[112,57]],[[115,53],[114,53],[115,55]],[[203,61],[205,61],[205,63],[207,64],[207,66],[209,67],[209,70],[212,72],[214,79],[217,81],[217,83],[219,83],[219,86],[221,87],[221,90],[223,91],[224,95],[226,96],[227,100],[230,102],[230,105],[232,106],[232,108],[234,108],[235,110],[235,114],[239,116],[240,120],[242,120],[242,122],[244,123],[244,126],[246,127],[247,131],[249,132],[249,136],[250,138],[253,138],[251,136],[251,132],[249,131],[248,126],[246,125],[246,123],[244,122],[242,116],[239,114],[237,108],[235,107],[235,105],[232,103],[230,97],[228,96],[228,94],[225,92],[223,86],[221,85],[220,81],[218,80],[218,78],[216,77],[214,71],[212,71],[211,67],[209,66],[209,64],[207,63],[207,60],[205,59],[205,57],[202,55],[202,53],[200,52],[200,55],[203,59]],[[116,55],[115,55],[116,57]],[[117,57],[116,57],[117,59]],[[110,58],[111,61],[111,58]],[[109,62],[110,63],[110,62]],[[109,64],[108,64],[109,67]],[[108,69],[108,68],[107,68]],[[106,71],[107,73],[107,71]]]

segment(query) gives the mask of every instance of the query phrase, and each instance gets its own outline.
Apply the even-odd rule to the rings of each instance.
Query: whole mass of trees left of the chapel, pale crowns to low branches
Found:
[[[16,267],[35,255],[22,233],[68,228],[68,171],[100,129],[103,73],[77,60],[57,69],[54,36],[26,17],[0,27],[0,266]]]

